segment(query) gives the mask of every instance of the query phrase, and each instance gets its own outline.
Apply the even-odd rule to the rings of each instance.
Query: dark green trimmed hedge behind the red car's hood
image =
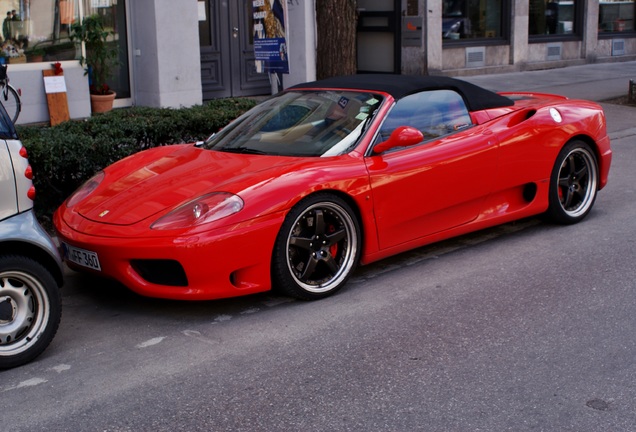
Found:
[[[218,99],[192,108],[116,109],[54,127],[18,126],[35,175],[38,219],[50,227],[55,209],[113,162],[151,147],[204,140],[255,104]]]

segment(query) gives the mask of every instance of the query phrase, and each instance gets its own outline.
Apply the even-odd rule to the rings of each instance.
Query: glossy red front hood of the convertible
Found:
[[[224,153],[194,145],[160,147],[111,165],[96,191],[74,210],[95,222],[132,225],[206,193],[240,194],[281,175],[296,159]]]

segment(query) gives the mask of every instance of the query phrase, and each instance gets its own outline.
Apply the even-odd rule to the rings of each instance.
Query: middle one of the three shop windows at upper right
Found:
[[[529,35],[575,34],[578,7],[580,0],[530,0]]]

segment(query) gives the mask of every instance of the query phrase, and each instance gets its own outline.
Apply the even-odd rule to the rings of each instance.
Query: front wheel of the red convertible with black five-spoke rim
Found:
[[[272,279],[276,289],[301,300],[338,291],[360,259],[360,225],[343,199],[311,195],[288,213],[276,238]]]

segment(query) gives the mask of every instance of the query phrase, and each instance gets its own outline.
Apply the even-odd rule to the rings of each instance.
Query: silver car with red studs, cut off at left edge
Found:
[[[0,105],[0,369],[24,364],[60,324],[60,256],[33,212],[26,148]]]

